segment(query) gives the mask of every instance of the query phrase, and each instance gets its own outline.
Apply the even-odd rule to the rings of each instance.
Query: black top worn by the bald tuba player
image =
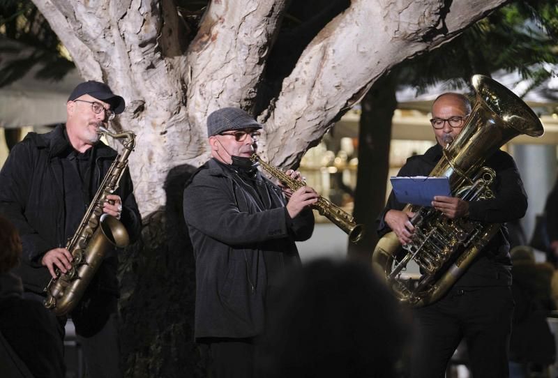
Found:
[[[439,144],[430,147],[424,155],[412,156],[400,169],[398,176],[428,176],[442,158]],[[469,219],[485,223],[504,223],[525,216],[527,194],[523,188],[518,168],[513,158],[504,151],[497,151],[485,162],[496,172],[492,183],[494,199],[481,199],[469,202]],[[389,195],[388,203],[377,219],[377,231],[383,236],[391,231],[384,216],[391,209],[402,210],[405,204]],[[455,286],[511,285],[511,259],[509,255],[508,232],[505,225],[479,253],[473,264],[455,283]]]

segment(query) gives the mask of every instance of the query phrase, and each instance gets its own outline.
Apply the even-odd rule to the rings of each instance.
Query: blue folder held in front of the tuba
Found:
[[[451,196],[447,177],[390,177],[395,198],[402,204],[432,206],[435,195]]]

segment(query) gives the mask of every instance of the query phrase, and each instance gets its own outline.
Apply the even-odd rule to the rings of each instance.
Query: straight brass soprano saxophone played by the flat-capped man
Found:
[[[282,183],[284,183],[293,192],[306,186],[305,181],[294,180],[291,176],[285,174],[280,169],[272,167],[268,163],[264,162],[255,153],[252,154],[250,159],[253,162],[258,162],[271,176],[275,177]],[[318,196],[318,200],[312,205],[312,208],[316,209],[322,216],[325,216],[331,222],[343,230],[347,235],[349,235],[349,240],[353,243],[358,242],[362,239],[364,234],[363,225],[357,225],[354,217],[349,215],[347,212],[343,211],[339,206],[335,206],[333,202],[322,196]]]

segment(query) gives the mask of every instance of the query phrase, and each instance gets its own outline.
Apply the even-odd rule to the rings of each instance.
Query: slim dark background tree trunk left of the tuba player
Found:
[[[365,234],[358,244],[349,244],[349,256],[368,260],[378,241],[375,220],[386,202],[391,119],[397,109],[393,75],[374,83],[361,101],[361,109],[354,217],[364,225]]]

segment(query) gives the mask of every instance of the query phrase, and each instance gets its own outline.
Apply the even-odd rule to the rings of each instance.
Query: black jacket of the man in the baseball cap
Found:
[[[23,244],[22,264],[15,271],[23,280],[24,289],[42,293],[50,280],[50,273],[40,264],[45,252],[65,247],[64,232],[66,206],[62,162],[68,149],[63,125],[46,134],[29,133],[16,144],[0,172],[0,214],[8,218],[20,232]],[[94,146],[94,187],[105,177],[116,151],[99,142]],[[79,185],[79,184],[77,184]],[[140,232],[141,218],[133,195],[132,180],[126,171],[115,194],[123,203],[121,221],[130,238]],[[93,193],[94,195],[94,193]],[[83,214],[85,209],[83,210]],[[96,282],[101,289],[118,292],[116,257],[105,260],[97,273]]]

